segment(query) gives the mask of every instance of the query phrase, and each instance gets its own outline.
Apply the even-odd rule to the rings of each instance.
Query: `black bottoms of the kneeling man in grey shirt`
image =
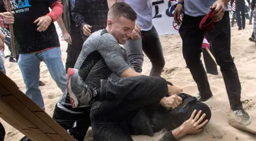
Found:
[[[71,108],[70,108],[71,109]],[[91,126],[91,121],[89,119],[89,110],[91,107],[79,109],[83,113],[69,113],[65,110],[59,108],[56,104],[55,110],[53,112],[53,119],[61,125],[66,130],[70,130],[70,134],[76,138],[78,141],[83,141],[85,134],[89,126]],[[73,127],[76,121],[76,127]]]

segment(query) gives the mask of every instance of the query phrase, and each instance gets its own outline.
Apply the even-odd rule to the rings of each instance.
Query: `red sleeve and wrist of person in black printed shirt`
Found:
[[[46,15],[50,16],[53,19],[53,22],[55,22],[63,13],[63,5],[61,4],[61,1],[59,0],[53,3],[51,9],[52,11]]]

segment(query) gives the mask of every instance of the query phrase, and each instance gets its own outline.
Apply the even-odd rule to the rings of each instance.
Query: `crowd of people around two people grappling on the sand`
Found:
[[[11,0],[12,12],[7,12],[7,3],[1,0],[0,25],[14,27],[18,54],[14,58],[23,75],[25,94],[45,109],[39,88],[43,61],[63,93],[53,119],[76,140],[84,140],[89,126],[97,141],[128,141],[131,135],[153,136],[162,129],[167,132],[160,140],[177,140],[201,132],[212,116],[203,103],[214,96],[200,60],[204,37],[221,67],[233,115],[239,123],[251,123],[240,101],[240,80],[230,52],[228,3],[179,0],[175,7],[174,20],[182,22],[183,56],[199,90],[196,97],[161,77],[165,57],[152,23],[151,1]],[[201,25],[209,12],[214,12],[211,22]],[[55,21],[68,42],[66,68]],[[244,27],[242,22],[239,30]],[[0,39],[0,49],[4,49],[3,33]],[[143,52],[152,62],[149,76],[141,74]],[[3,58],[0,61],[5,73]],[[208,73],[218,75],[213,65]],[[30,139],[25,136],[21,140]]]

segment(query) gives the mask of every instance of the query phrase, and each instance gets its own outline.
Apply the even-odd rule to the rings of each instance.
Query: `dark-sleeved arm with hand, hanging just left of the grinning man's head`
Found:
[[[87,24],[85,22],[85,16],[83,15],[84,12],[84,3],[85,0],[76,0],[74,1],[74,5],[71,10],[71,14],[73,17],[74,22],[76,22],[76,26],[79,26],[83,31],[83,26]]]

